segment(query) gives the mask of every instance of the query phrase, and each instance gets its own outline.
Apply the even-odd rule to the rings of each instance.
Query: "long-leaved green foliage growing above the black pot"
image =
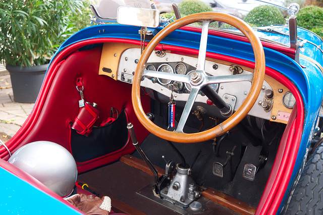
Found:
[[[82,0],[0,1],[0,62],[45,64],[73,33],[71,16],[82,9]]]

